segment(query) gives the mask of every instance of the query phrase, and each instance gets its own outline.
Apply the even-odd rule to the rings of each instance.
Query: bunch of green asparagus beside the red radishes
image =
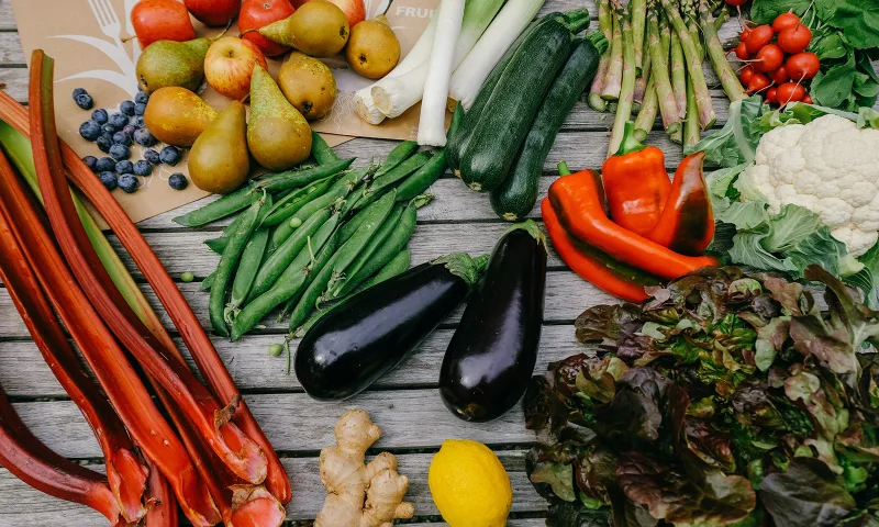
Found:
[[[645,141],[657,112],[676,143],[699,142],[716,116],[705,58],[731,101],[745,91],[726,60],[717,30],[728,12],[720,0],[598,0],[599,29],[611,43],[589,90],[589,105],[615,112],[608,156],[620,147],[626,121]]]

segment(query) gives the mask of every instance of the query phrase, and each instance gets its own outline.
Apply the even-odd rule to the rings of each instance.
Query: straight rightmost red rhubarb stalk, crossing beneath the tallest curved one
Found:
[[[30,135],[26,110],[3,91],[0,91],[0,119],[12,125],[20,133]],[[216,349],[214,349],[210,338],[201,327],[198,317],[196,317],[192,309],[183,299],[180,290],[177,289],[168,271],[163,267],[158,257],[156,257],[146,239],[137,231],[137,227],[125,214],[115,198],[94,177],[91,169],[82,162],[82,159],[69,145],[60,141],[59,143],[62,157],[70,180],[91,201],[125,249],[130,251],[134,262],[156,292],[159,302],[168,311],[187,349],[192,354],[196,366],[214,395],[221,401],[232,401],[236,395],[240,395],[238,389],[235,386],[232,375],[229,373]],[[291,497],[290,482],[287,479],[280,458],[271,448],[271,444],[256,423],[256,419],[254,419],[244,401],[238,404],[234,421],[247,437],[262,447],[268,457],[266,487],[281,503],[289,502]]]

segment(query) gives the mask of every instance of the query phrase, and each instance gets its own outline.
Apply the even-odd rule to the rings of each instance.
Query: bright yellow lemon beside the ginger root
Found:
[[[510,478],[494,452],[469,439],[446,439],[427,483],[450,527],[503,527],[513,504]]]

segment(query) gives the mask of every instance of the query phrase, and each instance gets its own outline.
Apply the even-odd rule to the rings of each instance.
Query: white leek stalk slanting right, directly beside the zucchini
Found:
[[[459,101],[469,110],[491,70],[541,10],[545,0],[509,0],[470,53],[455,68],[449,82],[448,108]]]

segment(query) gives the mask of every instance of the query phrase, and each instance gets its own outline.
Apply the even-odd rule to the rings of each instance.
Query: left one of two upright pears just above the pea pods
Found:
[[[201,190],[225,194],[241,187],[251,172],[247,112],[232,102],[199,135],[189,153],[189,177]]]

